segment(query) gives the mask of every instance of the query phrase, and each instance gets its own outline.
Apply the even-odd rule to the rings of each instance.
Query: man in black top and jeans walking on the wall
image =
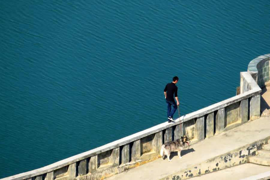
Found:
[[[168,107],[168,122],[172,122],[173,120],[173,114],[176,112],[177,110],[177,106],[179,105],[178,102],[178,97],[177,97],[177,86],[175,85],[178,82],[178,77],[175,76],[173,77],[173,82],[168,83],[164,89],[164,95],[165,95],[165,99],[166,99],[166,103],[167,103],[167,107]],[[167,93],[166,93],[167,91]],[[174,97],[176,99],[176,102],[174,101],[173,98],[173,93],[174,93]],[[173,110],[171,112],[171,106],[173,106]]]

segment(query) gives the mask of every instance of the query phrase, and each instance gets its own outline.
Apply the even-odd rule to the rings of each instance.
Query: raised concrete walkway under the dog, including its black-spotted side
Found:
[[[248,162],[249,156],[255,155],[256,150],[261,149],[262,145],[267,143],[270,139],[269,129],[270,118],[256,119],[214,137],[206,138],[204,141],[191,146],[190,149],[182,150],[182,159],[179,159],[175,153],[171,155],[172,162],[166,160],[152,161],[107,179],[179,180],[211,173],[217,171],[218,168],[242,164]],[[206,165],[208,167],[210,165],[209,169]],[[190,169],[187,170],[187,167],[190,167]],[[184,173],[185,171],[186,173]]]

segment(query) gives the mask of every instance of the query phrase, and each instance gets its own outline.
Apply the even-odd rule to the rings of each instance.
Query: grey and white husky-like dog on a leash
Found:
[[[182,158],[180,153],[181,153],[181,150],[185,147],[186,143],[189,146],[190,140],[188,140],[186,135],[184,135],[184,137],[181,137],[178,140],[164,143],[161,146],[161,150],[160,150],[161,160],[163,160],[164,156],[167,155],[169,162],[172,162],[170,160],[170,154],[171,154],[171,152],[174,152],[174,151],[177,151],[179,158]]]

